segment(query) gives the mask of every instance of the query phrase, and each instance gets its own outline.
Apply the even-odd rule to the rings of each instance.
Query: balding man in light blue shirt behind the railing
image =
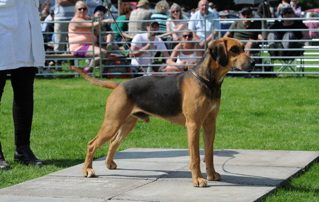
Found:
[[[203,20],[203,21],[189,21],[188,29],[193,30],[193,39],[201,40],[201,47],[205,46],[205,18],[204,15],[214,15],[214,19],[218,19],[216,13],[208,11],[208,1],[201,0],[198,2],[198,11],[196,11],[190,18],[190,20]],[[217,37],[218,32],[214,31],[214,37],[212,33],[212,17],[206,18],[206,42],[209,43],[211,40],[214,40]],[[214,29],[219,29],[219,23],[214,23]]]

